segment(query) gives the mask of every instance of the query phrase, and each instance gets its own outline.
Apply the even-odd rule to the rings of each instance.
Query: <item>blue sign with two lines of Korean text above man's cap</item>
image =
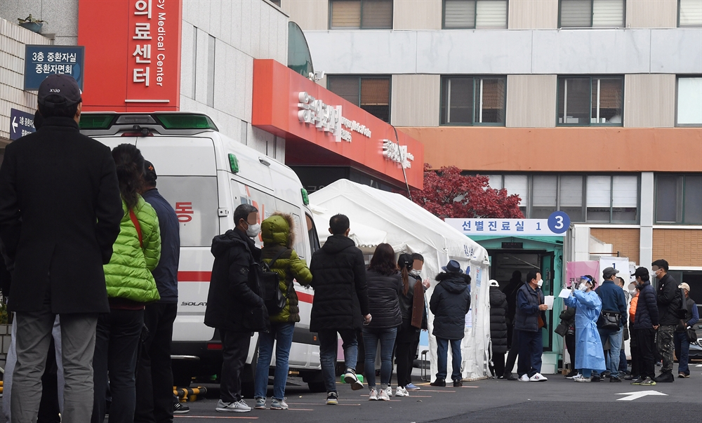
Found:
[[[68,74],[83,89],[84,46],[25,46],[25,90],[38,90],[51,74]]]

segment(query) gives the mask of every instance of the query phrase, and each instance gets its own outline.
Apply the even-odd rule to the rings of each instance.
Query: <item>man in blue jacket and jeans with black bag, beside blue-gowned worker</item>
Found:
[[[602,312],[618,314],[619,328],[617,330],[607,330],[598,328],[602,345],[609,340],[609,355],[605,354],[607,368],[609,370],[609,382],[621,382],[619,377],[619,351],[621,350],[622,328],[627,321],[626,298],[624,291],[617,286],[616,274],[619,271],[614,267],[607,267],[602,271],[602,285],[595,290],[602,300]],[[600,374],[593,372],[592,382],[600,382]]]

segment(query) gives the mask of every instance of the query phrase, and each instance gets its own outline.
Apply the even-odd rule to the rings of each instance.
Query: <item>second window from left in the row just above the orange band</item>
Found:
[[[507,79],[503,76],[444,76],[442,125],[505,125]]]

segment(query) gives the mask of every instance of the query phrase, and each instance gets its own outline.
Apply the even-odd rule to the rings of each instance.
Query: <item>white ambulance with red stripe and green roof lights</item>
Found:
[[[191,377],[213,380],[222,366],[218,331],[204,325],[214,236],[234,228],[234,208],[249,203],[261,219],[275,211],[289,213],[296,222],[300,258],[309,264],[319,248],[307,192],[297,175],[271,159],[218,132],[204,114],[184,112],[81,115],[81,133],[110,148],[136,145],[154,163],[157,188],[176,210],[180,222],[178,316],[173,325],[173,372],[178,386]],[[256,240],[261,245],[260,236]],[[295,283],[300,300],[300,323],[295,325],[290,370],[299,372],[313,391],[323,391],[319,342],[310,333],[313,291]],[[253,390],[258,336],[251,340],[244,390]],[[275,364],[275,358],[272,365]]]

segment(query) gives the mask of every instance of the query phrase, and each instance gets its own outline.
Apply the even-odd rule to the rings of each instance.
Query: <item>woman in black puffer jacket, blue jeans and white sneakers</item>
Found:
[[[395,251],[390,244],[380,243],[371,258],[366,271],[368,284],[368,306],[373,320],[364,325],[363,344],[366,351],[366,381],[370,401],[390,401],[390,375],[392,375],[392,349],[395,347],[397,327],[402,325],[399,311],[399,295],[403,283],[397,264]],[[376,351],[380,342],[380,391],[376,389]]]

